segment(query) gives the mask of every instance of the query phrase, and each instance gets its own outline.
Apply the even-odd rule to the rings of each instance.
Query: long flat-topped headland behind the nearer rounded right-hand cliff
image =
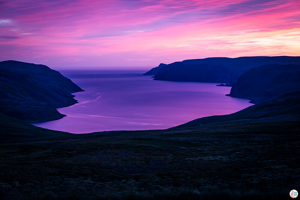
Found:
[[[204,58],[161,67],[154,80],[235,83],[241,74],[265,64],[300,64],[300,56]]]

